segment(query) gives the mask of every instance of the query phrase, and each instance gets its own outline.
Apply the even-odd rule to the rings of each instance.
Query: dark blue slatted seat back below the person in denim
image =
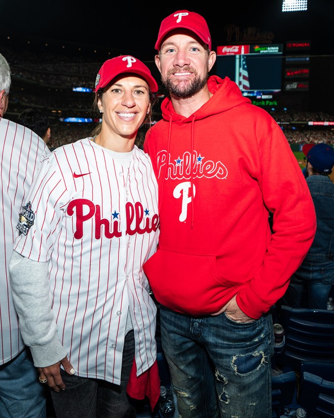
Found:
[[[334,311],[282,305],[279,322],[285,344],[277,362],[283,370],[300,371],[303,361],[334,363]]]

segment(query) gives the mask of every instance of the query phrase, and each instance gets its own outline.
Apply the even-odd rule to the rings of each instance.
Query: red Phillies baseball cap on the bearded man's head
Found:
[[[174,29],[184,28],[196,33],[211,50],[211,36],[204,17],[188,10],[178,10],[167,16],[160,25],[155,49],[159,50],[163,38]]]

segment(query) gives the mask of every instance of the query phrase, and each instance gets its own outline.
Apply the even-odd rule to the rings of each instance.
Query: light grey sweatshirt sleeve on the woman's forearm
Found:
[[[38,262],[13,251],[9,262],[13,300],[20,330],[34,365],[47,367],[66,357],[51,309],[48,262]]]

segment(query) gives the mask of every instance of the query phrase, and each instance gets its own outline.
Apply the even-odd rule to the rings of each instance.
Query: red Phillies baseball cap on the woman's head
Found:
[[[120,55],[107,60],[100,68],[95,81],[95,94],[99,89],[106,87],[117,75],[133,72],[144,78],[153,93],[158,91],[158,84],[152,77],[148,67],[131,55]]]

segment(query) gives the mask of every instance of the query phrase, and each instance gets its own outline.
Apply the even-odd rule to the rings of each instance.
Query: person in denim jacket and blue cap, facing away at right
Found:
[[[334,284],[334,184],[329,175],[334,167],[334,151],[328,144],[306,144],[306,183],[317,218],[314,241],[301,266],[292,275],[282,305],[327,309]],[[306,289],[306,301],[303,291]]]

